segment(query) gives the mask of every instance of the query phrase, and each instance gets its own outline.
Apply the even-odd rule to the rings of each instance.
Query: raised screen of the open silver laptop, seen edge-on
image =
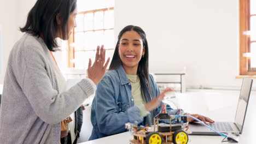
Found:
[[[246,110],[247,110],[249,96],[252,89],[252,81],[253,81],[252,79],[244,78],[242,87],[241,87],[241,92],[238,100],[236,117],[235,117],[235,124],[239,129],[240,133],[242,133],[243,123],[245,122]]]

